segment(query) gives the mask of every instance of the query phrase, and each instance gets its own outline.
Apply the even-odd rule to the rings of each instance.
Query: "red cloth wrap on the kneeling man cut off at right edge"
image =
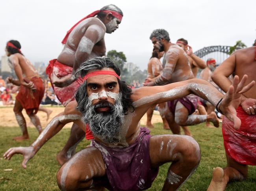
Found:
[[[256,165],[256,115],[248,115],[241,106],[236,112],[242,122],[239,129],[225,116],[222,122],[226,153],[240,164]]]

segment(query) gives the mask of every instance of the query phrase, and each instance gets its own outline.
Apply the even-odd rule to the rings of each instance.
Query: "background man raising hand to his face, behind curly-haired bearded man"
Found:
[[[191,70],[194,77],[196,78],[198,69],[206,68],[206,63],[204,62],[204,60],[193,54],[192,47],[188,45],[187,40],[185,40],[184,38],[178,39],[176,44],[182,47],[182,49],[187,53]]]

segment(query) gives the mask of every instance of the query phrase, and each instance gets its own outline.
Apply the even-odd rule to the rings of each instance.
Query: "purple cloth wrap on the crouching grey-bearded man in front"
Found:
[[[101,151],[106,165],[106,179],[96,178],[95,183],[113,191],[140,191],[151,187],[159,168],[151,168],[149,156],[150,131],[141,127],[140,134],[128,147],[106,147],[92,140],[92,146]]]

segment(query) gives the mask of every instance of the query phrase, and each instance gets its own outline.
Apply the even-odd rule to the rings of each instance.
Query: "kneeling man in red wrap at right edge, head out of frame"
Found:
[[[217,67],[211,78],[227,92],[230,84],[228,77],[235,73],[239,77],[248,75],[249,80],[256,80],[256,44],[253,47],[235,51]],[[227,167],[217,167],[208,191],[224,191],[232,180],[244,180],[248,175],[247,165],[256,165],[256,85],[241,95],[237,116],[241,127],[236,128],[225,116],[222,123]]]

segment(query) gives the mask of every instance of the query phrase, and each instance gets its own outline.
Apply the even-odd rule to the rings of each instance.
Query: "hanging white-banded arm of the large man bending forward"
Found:
[[[100,25],[90,25],[85,31],[85,34],[81,38],[76,49],[72,74],[67,76],[67,78],[54,82],[54,85],[57,87],[65,87],[72,84],[77,78],[77,76],[75,76],[76,70],[89,58],[94,45],[104,38],[104,35],[105,30]]]

